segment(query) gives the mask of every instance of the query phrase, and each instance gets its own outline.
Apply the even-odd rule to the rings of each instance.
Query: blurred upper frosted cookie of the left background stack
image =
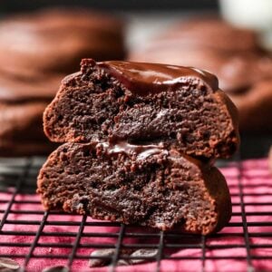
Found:
[[[122,24],[83,10],[15,15],[0,23],[0,62],[8,73],[72,73],[83,57],[124,56]]]

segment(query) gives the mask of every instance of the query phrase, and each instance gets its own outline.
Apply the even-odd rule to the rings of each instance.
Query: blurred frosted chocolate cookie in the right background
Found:
[[[193,66],[215,73],[219,87],[238,107],[241,131],[272,131],[267,128],[272,120],[272,90],[268,91],[272,58],[262,49],[254,31],[217,17],[189,19],[173,25],[141,49],[134,49],[129,59]]]

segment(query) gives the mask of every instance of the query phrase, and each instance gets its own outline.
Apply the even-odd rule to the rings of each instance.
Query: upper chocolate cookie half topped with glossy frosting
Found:
[[[189,155],[228,158],[237,112],[213,74],[153,63],[85,59],[44,112],[51,141],[163,142]]]

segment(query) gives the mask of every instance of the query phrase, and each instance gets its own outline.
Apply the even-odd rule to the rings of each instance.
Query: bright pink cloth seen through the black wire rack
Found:
[[[206,239],[206,261],[205,271],[247,271],[247,251],[245,247],[245,238],[243,235],[242,217],[241,217],[241,205],[239,198],[239,186],[238,186],[238,169],[235,164],[230,165],[228,168],[221,169],[226,179],[228,180],[228,186],[232,195],[233,202],[233,216],[230,224],[220,231],[219,234],[208,237]],[[250,248],[250,256],[252,257],[252,266],[257,271],[272,271],[272,176],[268,170],[267,160],[247,160],[242,164],[242,179],[245,209],[247,213],[248,232]],[[8,200],[11,198],[10,193],[0,193],[1,200]],[[17,195],[15,200],[39,200],[35,195]],[[7,206],[7,203],[0,204],[0,209],[3,210]],[[12,206],[12,210],[24,211],[24,210],[42,210],[40,204],[22,204],[15,203]],[[0,218],[2,215],[0,214]],[[5,246],[0,247],[0,254],[28,254],[30,250],[30,244],[34,241],[34,234],[39,228],[39,222],[43,219],[43,214],[20,214],[10,213],[7,221],[5,222],[4,233],[0,233],[1,243],[15,242],[21,243],[22,247]],[[50,225],[45,225],[44,233],[38,240],[39,247],[34,249],[34,257],[31,257],[28,263],[28,271],[41,271],[44,267],[53,265],[67,265],[67,258],[54,258],[54,255],[67,255],[72,252],[72,247],[62,248],[61,244],[65,243],[73,245],[75,236],[78,233],[79,226],[61,226],[55,224],[54,221],[78,221],[82,219],[81,216],[71,215],[50,215],[47,222]],[[27,220],[30,225],[20,225],[19,220]],[[87,222],[93,220],[88,218]],[[83,233],[101,232],[101,233],[118,233],[119,227],[85,227]],[[138,228],[137,231],[143,231],[143,228]],[[33,231],[32,236],[18,236],[11,235],[6,231]],[[60,237],[53,236],[58,232],[72,232],[73,237]],[[132,232],[132,228],[126,228],[126,232]],[[51,233],[51,235],[50,235]],[[258,233],[261,233],[259,237]],[[46,235],[45,235],[46,234]],[[158,243],[159,238],[153,238],[149,240],[144,239],[146,244]],[[193,243],[195,240],[196,245],[201,241],[199,237],[189,238],[188,240],[172,241],[166,239],[168,243]],[[83,237],[81,238],[82,247],[76,252],[78,255],[89,255],[94,248],[84,247],[87,243],[97,244],[111,244],[116,243],[116,238],[94,238]],[[142,243],[141,239],[137,238],[125,238],[123,243],[134,244]],[[53,243],[52,248],[43,247],[44,243]],[[226,246],[229,248],[213,248],[215,246]],[[264,247],[266,245],[266,247]],[[160,262],[161,271],[200,271],[201,260],[193,259],[189,260],[186,257],[201,257],[201,248],[187,248],[180,249],[176,252],[171,252],[172,257],[184,257],[182,260],[162,260]],[[39,255],[47,255],[51,258],[35,257]],[[217,257],[214,259],[213,257]],[[227,258],[226,258],[227,257]],[[229,259],[229,257],[238,257],[237,259]],[[262,258],[266,257],[266,258]],[[15,258],[15,257],[14,257]],[[23,257],[15,258],[21,265],[24,264]],[[116,271],[154,271],[156,269],[156,263],[150,262],[147,264],[135,265],[130,267],[118,267]],[[75,258],[72,266],[73,271],[108,271],[108,267],[89,268],[87,259]]]

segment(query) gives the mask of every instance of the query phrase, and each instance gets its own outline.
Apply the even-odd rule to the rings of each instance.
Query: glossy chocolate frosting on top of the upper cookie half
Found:
[[[219,81],[215,75],[195,68],[158,63],[119,61],[97,64],[131,92],[141,95],[175,91],[180,86],[194,80],[206,83],[214,91],[219,89]]]

